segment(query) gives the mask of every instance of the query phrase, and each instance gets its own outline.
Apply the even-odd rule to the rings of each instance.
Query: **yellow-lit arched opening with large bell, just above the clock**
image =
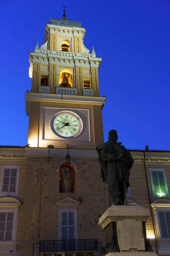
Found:
[[[71,70],[63,69],[59,72],[59,87],[73,87],[73,73]]]

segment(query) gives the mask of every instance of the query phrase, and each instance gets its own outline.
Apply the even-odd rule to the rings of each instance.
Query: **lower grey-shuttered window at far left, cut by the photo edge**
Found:
[[[0,212],[0,241],[11,241],[14,212]]]

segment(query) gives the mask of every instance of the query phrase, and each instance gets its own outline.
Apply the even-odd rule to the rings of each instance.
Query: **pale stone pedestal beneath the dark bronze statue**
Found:
[[[105,230],[105,255],[156,256],[146,238],[148,209],[136,205],[112,205],[99,218]]]

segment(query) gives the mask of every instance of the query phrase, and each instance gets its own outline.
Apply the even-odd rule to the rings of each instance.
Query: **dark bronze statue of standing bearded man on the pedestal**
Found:
[[[100,177],[103,182],[108,183],[113,203],[125,204],[126,189],[130,186],[130,169],[134,160],[121,142],[117,142],[116,130],[109,131],[108,135],[108,141],[96,148],[101,165]]]

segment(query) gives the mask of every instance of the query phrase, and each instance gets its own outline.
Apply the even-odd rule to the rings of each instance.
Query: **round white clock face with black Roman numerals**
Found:
[[[82,131],[82,120],[75,113],[62,111],[51,119],[51,129],[61,138],[74,138]]]

